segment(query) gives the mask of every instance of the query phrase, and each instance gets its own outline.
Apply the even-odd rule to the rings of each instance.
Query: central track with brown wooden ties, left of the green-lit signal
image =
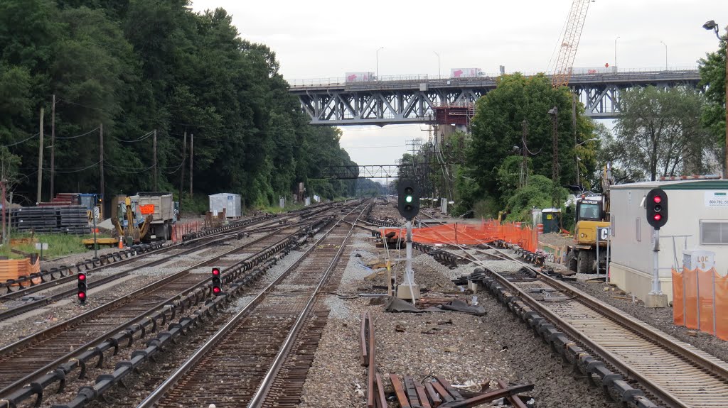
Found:
[[[345,218],[359,215],[352,211]],[[328,316],[317,293],[352,229],[338,221],[139,407],[295,407]]]

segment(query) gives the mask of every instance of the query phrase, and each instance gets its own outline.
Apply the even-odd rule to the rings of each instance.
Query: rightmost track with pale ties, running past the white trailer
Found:
[[[727,363],[491,248],[521,269],[486,270],[480,282],[607,396],[634,407],[727,406]]]

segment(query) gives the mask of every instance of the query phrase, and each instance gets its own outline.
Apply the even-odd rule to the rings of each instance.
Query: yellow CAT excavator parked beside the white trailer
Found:
[[[574,227],[574,243],[567,246],[566,265],[572,272],[593,274],[597,270],[597,262],[606,270],[606,240],[599,240],[599,258],[597,259],[598,228],[608,228],[609,221],[609,188],[614,184],[609,164],[604,166],[601,177],[601,194],[583,192],[577,197],[576,227]]]

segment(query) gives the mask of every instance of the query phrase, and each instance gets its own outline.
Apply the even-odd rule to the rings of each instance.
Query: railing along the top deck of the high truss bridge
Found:
[[[590,78],[593,79],[610,79],[610,80],[625,80],[630,81],[634,79],[645,79],[645,77],[653,76],[656,80],[659,79],[681,79],[681,78],[694,78],[697,72],[697,66],[673,66],[669,69],[663,68],[634,68],[630,70],[619,70],[616,72],[598,72],[598,73],[575,73],[571,76],[574,81],[584,81]],[[538,73],[533,72],[521,72],[524,76],[535,76]],[[414,75],[395,75],[395,76],[380,76],[373,81],[354,81],[347,82],[346,78],[306,78],[306,79],[293,79],[288,81],[291,89],[306,89],[313,87],[327,87],[327,86],[346,86],[347,88],[356,88],[360,86],[362,88],[371,88],[376,86],[377,88],[399,88],[400,86],[413,85],[427,81],[432,86],[438,85],[457,85],[458,83],[467,83],[470,85],[483,83],[483,85],[492,85],[496,78],[500,75],[498,73],[484,73],[483,76],[474,78],[451,78],[449,76],[436,76],[428,74],[414,74]]]

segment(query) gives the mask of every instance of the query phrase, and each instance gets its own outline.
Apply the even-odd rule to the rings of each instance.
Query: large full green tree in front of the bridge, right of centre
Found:
[[[553,123],[547,112],[558,108],[558,160],[553,157]],[[576,181],[574,156],[574,127],[572,124],[571,93],[569,89],[553,89],[550,79],[543,74],[526,78],[521,74],[502,76],[498,86],[475,104],[472,121],[472,144],[468,163],[480,187],[480,193],[496,197],[505,205],[505,186],[499,184],[498,169],[513,155],[514,147],[523,146],[523,121],[526,121],[526,148],[533,153],[529,171],[551,177],[554,163],[559,166],[558,184]],[[577,104],[577,141],[593,137],[594,123],[584,115]],[[582,145],[583,150],[594,150],[596,142]],[[583,170],[593,173],[596,157],[582,158]],[[505,187],[507,188],[507,187]]]

